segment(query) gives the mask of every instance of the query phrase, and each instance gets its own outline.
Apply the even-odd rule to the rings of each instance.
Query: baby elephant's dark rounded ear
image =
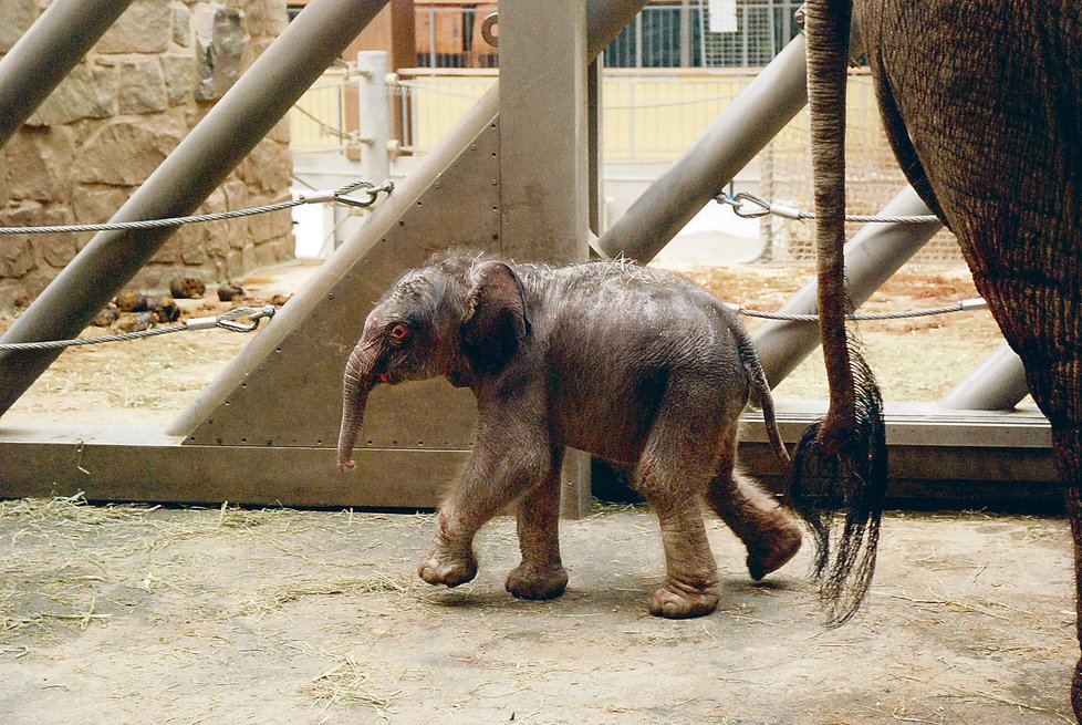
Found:
[[[490,261],[474,272],[466,300],[462,349],[478,372],[495,372],[530,334],[522,282],[508,265]]]

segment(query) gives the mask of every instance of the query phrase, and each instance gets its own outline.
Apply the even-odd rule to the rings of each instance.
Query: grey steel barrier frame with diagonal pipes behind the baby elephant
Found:
[[[114,221],[190,213],[386,4],[314,0],[193,130]],[[0,418],[0,497],[77,487],[90,499],[222,501],[292,506],[433,507],[469,455],[474,401],[444,381],[376,389],[368,400],[356,472],[340,474],[335,444],[341,373],[364,319],[389,284],[433,252],[468,247],[514,259],[569,262],[590,247],[647,261],[805,103],[798,38],[678,159],[597,238],[599,53],[644,0],[503,0],[500,82],[426,156],[367,222],[319,270],[199,398],[165,429],[122,426],[13,428]],[[105,13],[101,7],[108,7]],[[115,0],[58,0],[2,60],[0,101],[49,59],[48,87],[4,108],[0,143],[119,14]],[[119,10],[118,10],[119,8]],[[72,39],[79,39],[74,43]],[[74,50],[72,50],[74,48]],[[553,53],[561,48],[563,52]],[[77,52],[76,52],[77,51]],[[21,65],[20,65],[21,63]],[[21,116],[21,117],[20,117]],[[927,213],[912,191],[893,214]],[[850,246],[859,302],[937,225],[886,225]],[[132,279],[168,231],[97,235],[2,338],[75,336]],[[811,305],[812,309],[809,309]],[[787,311],[813,311],[808,291]],[[777,384],[816,344],[814,324],[780,323],[757,338]],[[0,414],[58,353],[0,353]],[[1000,355],[948,396],[969,407],[1010,407],[1024,395],[1017,361]],[[1003,374],[1003,369],[1010,374]],[[990,390],[989,390],[990,389]],[[1020,394],[1018,394],[1020,390]],[[1006,393],[1005,393],[1006,391]],[[1016,396],[1013,401],[1009,400]],[[1005,397],[1006,396],[1006,397]],[[1003,405],[1005,400],[1006,405]],[[783,437],[795,439],[821,411],[782,402]],[[1040,416],[888,407],[896,480],[977,484],[959,495],[1055,480]],[[753,473],[777,474],[764,432],[741,448]],[[564,514],[590,505],[589,459],[569,456]],[[979,488],[984,486],[984,488]]]

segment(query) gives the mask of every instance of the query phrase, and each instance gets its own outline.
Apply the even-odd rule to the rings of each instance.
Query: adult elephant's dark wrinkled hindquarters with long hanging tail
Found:
[[[957,235],[980,293],[1052,424],[1082,582],[1082,12],[1073,0],[855,0],[853,17],[903,170]],[[807,7],[821,305],[841,299],[837,123],[849,2]],[[842,323],[824,353],[844,365]],[[860,376],[857,376],[860,382]],[[833,385],[845,398],[851,381]],[[823,429],[850,431],[843,414]],[[1080,588],[1082,601],[1082,588]],[[1082,636],[1082,631],[1080,631]],[[1072,687],[1082,722],[1082,663]]]

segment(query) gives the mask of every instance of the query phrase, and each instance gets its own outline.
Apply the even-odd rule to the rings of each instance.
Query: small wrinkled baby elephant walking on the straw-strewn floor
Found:
[[[339,465],[351,460],[368,392],[446,375],[477,396],[477,441],[439,510],[420,563],[431,584],[477,573],[474,536],[518,504],[522,562],[507,590],[563,593],[560,473],[565,446],[634,466],[633,486],[660,520],[667,578],[652,614],[708,614],[717,567],[706,501],[748,549],[760,579],[800,548],[801,532],[734,468],[737,420],[755,391],[786,463],[762,367],[732,311],[687,280],[624,262],[550,269],[452,253],[407,272],[372,310],[345,369]]]

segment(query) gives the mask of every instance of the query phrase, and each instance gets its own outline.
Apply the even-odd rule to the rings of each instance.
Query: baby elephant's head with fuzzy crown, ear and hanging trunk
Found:
[[[339,467],[351,459],[368,393],[446,375],[456,386],[498,371],[530,334],[522,282],[507,263],[476,255],[434,257],[376,303],[346,363]]]

